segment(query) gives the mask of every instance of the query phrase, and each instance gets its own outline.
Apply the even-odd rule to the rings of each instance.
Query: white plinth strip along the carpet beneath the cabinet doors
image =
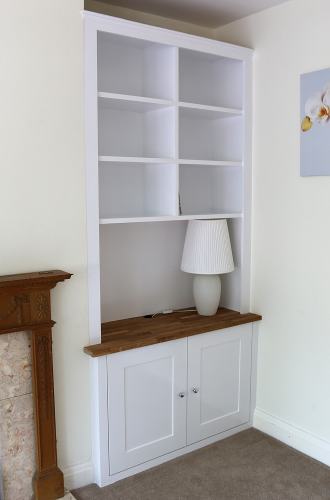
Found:
[[[211,436],[207,439],[203,439],[202,441],[198,441],[197,443],[184,446],[179,450],[173,451],[172,453],[167,453],[166,455],[162,455],[158,458],[150,460],[148,462],[144,462],[143,464],[137,465],[136,467],[131,467],[130,469],[124,470],[122,472],[118,472],[118,474],[113,474],[112,476],[104,477],[102,483],[98,483],[100,487],[108,486],[109,484],[116,483],[121,479],[125,479],[127,477],[138,474],[139,472],[143,472],[145,470],[151,469],[152,467],[156,467],[157,465],[163,464],[174,458],[181,457],[182,455],[186,455],[187,453],[191,453],[192,451],[199,450],[200,448],[204,448],[204,446],[208,446],[210,444],[216,443],[217,441],[222,441],[222,439],[228,438],[237,434],[238,432],[245,431],[249,429],[251,424],[247,422],[246,424],[240,425],[238,427],[234,427],[233,429],[229,429],[228,431],[222,432],[221,434],[216,434],[215,436]]]

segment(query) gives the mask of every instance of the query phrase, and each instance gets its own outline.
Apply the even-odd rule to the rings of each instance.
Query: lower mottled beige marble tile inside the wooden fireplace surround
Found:
[[[5,500],[29,500],[35,470],[31,394],[0,401],[0,440]]]

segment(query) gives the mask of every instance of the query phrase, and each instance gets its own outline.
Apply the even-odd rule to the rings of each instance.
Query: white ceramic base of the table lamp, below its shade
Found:
[[[193,294],[198,314],[213,316],[219,307],[221,281],[218,274],[196,274]]]

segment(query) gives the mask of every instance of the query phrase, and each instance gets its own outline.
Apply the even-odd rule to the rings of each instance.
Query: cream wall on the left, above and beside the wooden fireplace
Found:
[[[0,274],[63,269],[53,294],[59,463],[90,461],[83,0],[11,0],[0,16]]]

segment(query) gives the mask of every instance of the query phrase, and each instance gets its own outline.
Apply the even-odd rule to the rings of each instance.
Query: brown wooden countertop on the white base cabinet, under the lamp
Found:
[[[195,311],[179,311],[168,315],[160,314],[154,318],[142,316],[110,321],[102,324],[101,343],[86,346],[84,352],[95,358],[261,319],[259,314],[240,314],[220,308],[214,316],[199,316]]]

